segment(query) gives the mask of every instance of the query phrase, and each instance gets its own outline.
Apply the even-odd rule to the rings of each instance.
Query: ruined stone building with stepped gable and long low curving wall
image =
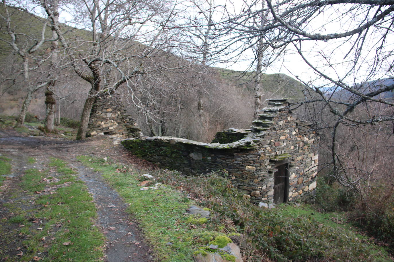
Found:
[[[133,154],[185,173],[224,170],[253,202],[273,202],[274,173],[286,165],[284,202],[313,200],[318,164],[317,137],[297,120],[286,99],[270,99],[251,132],[232,143],[202,143],[176,137],[143,137],[121,143]]]

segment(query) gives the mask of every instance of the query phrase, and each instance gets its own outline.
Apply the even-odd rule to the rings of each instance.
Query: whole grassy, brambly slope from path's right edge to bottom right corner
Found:
[[[275,261],[390,260],[385,249],[357,233],[346,221],[345,213],[319,213],[310,205],[261,209],[216,174],[186,177],[177,172],[151,171],[167,185],[156,191],[140,191],[136,184],[143,172],[116,172],[123,165],[86,156],[79,159],[102,172],[131,204],[129,212],[141,222],[145,236],[162,261],[192,261],[192,252],[206,252],[204,246],[219,235],[240,235],[241,242],[247,243],[244,255],[249,261],[261,257]],[[206,224],[202,221],[200,225],[198,218],[183,214],[192,202],[172,189],[175,186],[189,188],[206,200],[200,205],[214,211]],[[167,242],[173,245],[168,246]]]

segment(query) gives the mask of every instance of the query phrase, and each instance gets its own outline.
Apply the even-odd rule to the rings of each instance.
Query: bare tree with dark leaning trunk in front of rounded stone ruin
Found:
[[[152,59],[152,53],[167,40],[163,28],[170,22],[174,9],[166,1],[75,2],[72,12],[79,20],[74,19],[74,23],[85,26],[91,33],[91,40],[82,43],[86,51],[78,52],[63,36],[48,2],[42,0],[41,4],[54,24],[74,71],[91,84],[77,134],[77,139],[82,139],[97,95],[112,94],[126,84],[135,101],[135,83],[132,82],[157,69],[147,68],[144,63]]]

